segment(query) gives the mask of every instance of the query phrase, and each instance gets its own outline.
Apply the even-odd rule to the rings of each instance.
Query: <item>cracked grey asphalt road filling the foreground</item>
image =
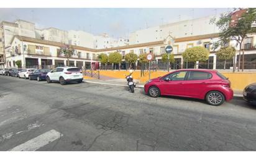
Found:
[[[256,150],[255,114],[243,100],[0,76],[0,150]]]

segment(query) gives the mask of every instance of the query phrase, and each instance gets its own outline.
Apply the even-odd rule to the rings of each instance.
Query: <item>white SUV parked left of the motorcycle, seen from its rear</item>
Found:
[[[78,67],[56,67],[46,75],[47,83],[58,81],[61,85],[66,82],[83,82],[83,74]]]

